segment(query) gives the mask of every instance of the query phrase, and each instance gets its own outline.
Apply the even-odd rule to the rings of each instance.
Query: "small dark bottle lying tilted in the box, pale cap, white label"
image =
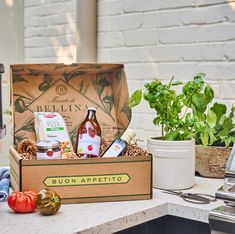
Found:
[[[109,145],[101,157],[118,157],[122,155],[135,135],[136,134],[132,129],[127,129],[120,138],[115,139]]]

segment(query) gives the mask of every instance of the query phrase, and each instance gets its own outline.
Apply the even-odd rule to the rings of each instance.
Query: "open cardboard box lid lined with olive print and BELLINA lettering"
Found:
[[[14,143],[35,139],[33,112],[59,112],[71,140],[86,116],[97,108],[103,138],[115,138],[128,127],[128,87],[121,64],[11,65]]]

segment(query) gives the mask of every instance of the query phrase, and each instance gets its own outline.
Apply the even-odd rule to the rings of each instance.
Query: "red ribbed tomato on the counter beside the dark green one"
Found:
[[[17,213],[33,212],[36,205],[37,193],[34,191],[12,192],[8,197],[8,205]]]

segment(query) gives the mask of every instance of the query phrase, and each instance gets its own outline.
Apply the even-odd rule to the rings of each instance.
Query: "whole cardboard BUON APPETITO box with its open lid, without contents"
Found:
[[[10,147],[9,157],[14,190],[48,187],[61,196],[63,203],[152,197],[150,156],[23,160],[15,150],[22,139],[36,139],[36,111],[59,112],[73,143],[87,106],[97,108],[103,138],[122,134],[131,119],[123,65],[12,65],[11,84],[15,146]]]

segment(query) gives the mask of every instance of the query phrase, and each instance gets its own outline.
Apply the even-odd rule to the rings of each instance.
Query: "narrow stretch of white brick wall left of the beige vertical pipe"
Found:
[[[25,0],[26,63],[76,62],[76,0]]]

